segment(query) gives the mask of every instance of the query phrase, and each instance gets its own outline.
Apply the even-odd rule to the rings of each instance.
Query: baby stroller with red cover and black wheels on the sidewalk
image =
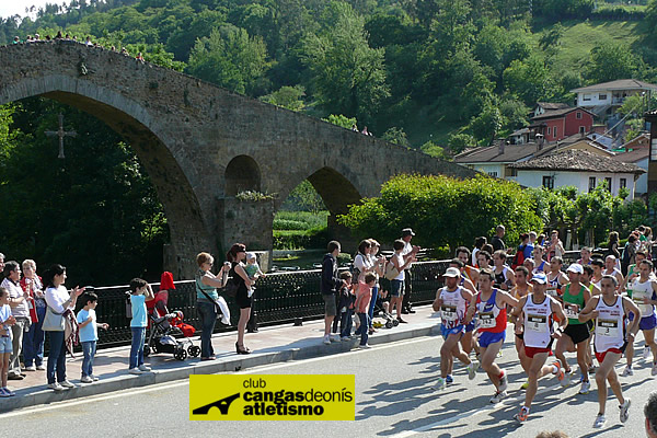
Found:
[[[194,335],[195,328],[183,322],[184,314],[180,310],[159,316],[157,312],[150,314],[150,333],[148,342],[143,345],[143,356],[152,353],[173,354],[177,360],[185,360],[187,355],[197,357],[200,347],[194,345],[189,336]],[[184,336],[182,339],[175,336]]]

